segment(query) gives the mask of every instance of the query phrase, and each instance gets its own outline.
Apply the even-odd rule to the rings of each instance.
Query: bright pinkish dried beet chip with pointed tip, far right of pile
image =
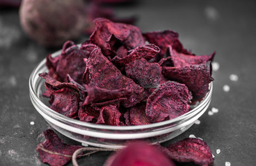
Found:
[[[170,60],[173,62],[174,67],[187,66],[189,64],[205,64],[208,61],[211,62],[215,55],[215,52],[211,55],[186,55],[183,53],[177,53],[177,51],[171,46],[168,47],[168,51],[170,53]]]

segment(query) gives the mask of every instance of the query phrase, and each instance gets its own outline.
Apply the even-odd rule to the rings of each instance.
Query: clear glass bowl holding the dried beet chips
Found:
[[[52,54],[59,55],[61,50]],[[42,97],[45,92],[45,80],[38,76],[39,73],[48,72],[43,59],[35,67],[29,78],[30,98],[35,109],[43,118],[57,131],[73,140],[86,143],[95,147],[121,148],[127,142],[133,140],[145,140],[152,142],[165,142],[175,138],[191,127],[195,120],[207,110],[211,102],[213,89],[212,82],[209,84],[209,92],[191,111],[172,120],[145,124],[138,126],[109,126],[104,124],[93,124],[67,118],[49,108],[47,98]]]

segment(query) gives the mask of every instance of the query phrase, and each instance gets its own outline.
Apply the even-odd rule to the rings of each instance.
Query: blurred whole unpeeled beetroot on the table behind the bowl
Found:
[[[77,39],[88,25],[83,0],[23,0],[19,8],[22,28],[43,46],[62,45]]]

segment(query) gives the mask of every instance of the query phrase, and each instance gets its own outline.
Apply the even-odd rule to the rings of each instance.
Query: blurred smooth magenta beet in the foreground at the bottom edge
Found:
[[[104,163],[106,166],[175,166],[166,154],[147,142],[131,142]]]

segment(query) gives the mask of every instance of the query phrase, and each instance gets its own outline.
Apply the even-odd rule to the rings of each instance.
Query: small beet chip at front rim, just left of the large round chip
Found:
[[[150,120],[147,119],[145,109],[145,102],[136,104],[134,107],[130,107],[129,122],[133,125],[151,124]]]

